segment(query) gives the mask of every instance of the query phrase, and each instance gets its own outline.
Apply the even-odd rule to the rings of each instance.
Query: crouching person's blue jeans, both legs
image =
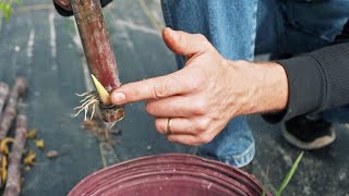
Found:
[[[163,0],[161,4],[167,26],[205,35],[230,60],[252,61],[258,53],[293,56],[324,47],[340,34],[349,16],[346,0]],[[184,60],[177,57],[179,69]],[[336,110],[324,117],[335,121],[349,107]],[[234,118],[197,150],[200,156],[236,167],[252,161],[254,152],[245,117]]]

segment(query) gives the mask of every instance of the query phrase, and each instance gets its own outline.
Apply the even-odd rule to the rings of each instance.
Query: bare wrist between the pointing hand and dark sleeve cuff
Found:
[[[240,79],[246,83],[248,101],[240,114],[275,112],[288,103],[288,79],[284,68],[275,62],[234,61]],[[239,73],[239,72],[238,72]]]

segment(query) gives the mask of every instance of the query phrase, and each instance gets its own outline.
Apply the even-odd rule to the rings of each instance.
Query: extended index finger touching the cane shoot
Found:
[[[123,105],[146,99],[159,99],[192,91],[192,76],[184,70],[174,73],[122,85],[111,94],[111,102]]]

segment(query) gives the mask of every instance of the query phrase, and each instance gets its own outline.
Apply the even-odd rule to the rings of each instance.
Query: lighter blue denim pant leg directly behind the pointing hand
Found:
[[[163,0],[166,25],[200,33],[227,59],[253,60],[257,0]],[[179,68],[184,58],[177,57]],[[198,147],[200,156],[236,167],[254,157],[254,139],[245,117],[237,117],[209,144]]]

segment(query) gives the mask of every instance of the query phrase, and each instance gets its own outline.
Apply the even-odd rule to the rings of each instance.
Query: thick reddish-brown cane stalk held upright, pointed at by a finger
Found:
[[[123,118],[122,106],[110,105],[110,91],[120,87],[116,58],[105,26],[99,0],[71,0],[79,34],[91,74],[101,84],[97,88],[99,109],[105,122],[116,122]],[[108,91],[108,94],[104,94]],[[107,97],[105,99],[105,97]]]

